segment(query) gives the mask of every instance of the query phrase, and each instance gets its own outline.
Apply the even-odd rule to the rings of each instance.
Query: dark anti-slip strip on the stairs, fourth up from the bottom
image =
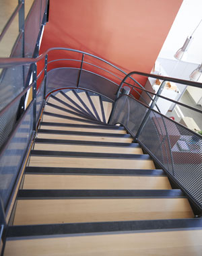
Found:
[[[32,150],[32,156],[55,156],[67,158],[105,158],[105,159],[133,159],[133,160],[151,160],[146,154],[115,154],[115,153],[92,153],[92,152],[66,152],[50,150]],[[127,164],[127,163],[126,163]]]

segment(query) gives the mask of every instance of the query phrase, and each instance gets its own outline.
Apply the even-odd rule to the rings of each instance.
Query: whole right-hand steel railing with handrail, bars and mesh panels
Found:
[[[156,93],[138,88],[142,92],[151,94],[152,100],[149,106],[131,96],[121,94],[125,84],[130,86],[131,90],[134,87],[137,88],[127,83],[127,78],[131,75],[143,75],[163,81]],[[198,179],[202,177],[202,136],[162,115],[155,106],[158,99],[162,98],[165,100],[164,104],[170,101],[200,114],[202,110],[162,96],[166,82],[200,88],[202,93],[202,84],[198,82],[134,71],[124,77],[116,92],[109,123],[111,125],[119,123],[131,133],[134,141],[139,142],[143,149],[156,160],[158,166],[166,171],[173,183],[189,196],[196,207],[196,215],[201,216],[202,194]],[[141,111],[141,118],[138,117],[136,110]]]

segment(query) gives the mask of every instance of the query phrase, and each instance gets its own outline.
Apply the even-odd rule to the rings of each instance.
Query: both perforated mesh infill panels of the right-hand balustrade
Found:
[[[121,96],[110,123],[121,123],[135,137],[147,110],[137,100]],[[202,209],[202,137],[151,110],[138,139]]]

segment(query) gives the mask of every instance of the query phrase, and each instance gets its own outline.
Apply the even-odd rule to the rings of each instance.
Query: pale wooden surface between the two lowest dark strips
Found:
[[[191,217],[189,201],[184,198],[24,199],[18,200],[14,225]]]

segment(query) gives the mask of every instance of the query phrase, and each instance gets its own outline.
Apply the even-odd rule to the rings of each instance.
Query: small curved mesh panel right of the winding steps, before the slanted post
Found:
[[[123,95],[116,100],[110,124],[115,125],[116,123],[121,123],[121,125],[127,127],[131,134],[135,136],[147,110],[148,108],[137,100]]]

